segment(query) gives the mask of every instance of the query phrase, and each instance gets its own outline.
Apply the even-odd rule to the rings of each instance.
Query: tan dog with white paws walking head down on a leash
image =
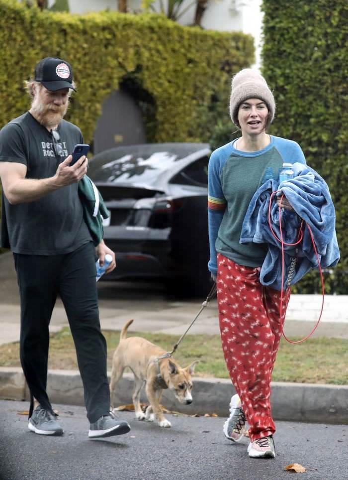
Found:
[[[198,360],[192,362],[186,368],[181,368],[173,357],[158,359],[166,354],[165,350],[141,337],[126,338],[127,329],[132,322],[133,320],[129,320],[122,328],[120,343],[112,359],[111,409],[114,407],[115,385],[122,377],[123,370],[128,366],[134,373],[132,398],[135,416],[139,420],[146,419],[151,422],[156,418],[160,427],[171,427],[171,422],[165,418],[161,409],[162,391],[164,388],[169,388],[174,392],[175,398],[180,403],[191,403],[191,375],[193,375],[194,366]],[[144,383],[146,383],[146,394],[150,403],[145,414],[140,406],[140,392]]]

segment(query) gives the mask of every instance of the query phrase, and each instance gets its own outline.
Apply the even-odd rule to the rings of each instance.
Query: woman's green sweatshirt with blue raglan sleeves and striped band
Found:
[[[213,151],[208,166],[209,270],[217,273],[217,252],[240,265],[260,267],[266,243],[240,243],[243,220],[258,188],[278,179],[284,162],[306,160],[298,143],[270,135],[270,143],[256,152],[243,152],[227,143]]]

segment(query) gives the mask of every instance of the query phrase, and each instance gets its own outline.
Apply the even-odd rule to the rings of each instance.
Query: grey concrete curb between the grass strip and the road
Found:
[[[231,381],[221,378],[193,378],[193,403],[181,405],[164,390],[162,404],[172,411],[188,415],[216,413],[228,416],[228,405],[234,393]],[[312,383],[272,382],[272,414],[275,420],[348,425],[348,386]],[[115,403],[132,402],[133,375],[125,373],[118,383]],[[49,370],[47,393],[52,403],[84,405],[84,391],[78,370]],[[22,369],[0,367],[0,398],[28,400]],[[142,401],[147,402],[142,396]]]

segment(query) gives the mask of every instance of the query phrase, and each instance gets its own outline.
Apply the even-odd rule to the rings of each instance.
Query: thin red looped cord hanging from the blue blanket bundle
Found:
[[[307,224],[307,222],[305,222],[303,219],[301,220],[301,225],[299,227],[299,232],[298,232],[298,237],[297,237],[297,241],[295,243],[286,243],[284,240],[283,240],[283,232],[282,232],[282,228],[281,228],[281,202],[284,198],[284,194],[281,195],[280,197],[280,204],[279,204],[279,231],[280,231],[280,239],[278,239],[278,237],[275,235],[273,229],[272,229],[272,225],[271,225],[271,220],[270,220],[270,209],[271,209],[271,201],[272,201],[272,197],[273,195],[275,195],[277,192],[280,192],[281,190],[277,190],[275,192],[273,192],[269,198],[269,207],[268,207],[268,225],[269,225],[269,228],[270,228],[270,231],[273,235],[273,237],[278,240],[280,243],[281,243],[281,290],[280,290],[280,328],[281,328],[281,333],[283,334],[283,337],[285,338],[285,340],[287,340],[290,344],[300,344],[302,342],[304,342],[305,340],[307,340],[313,333],[314,331],[316,330],[316,328],[318,327],[319,325],[319,322],[320,322],[320,319],[321,319],[321,316],[322,316],[322,313],[323,313],[323,309],[324,309],[324,296],[325,296],[325,287],[324,287],[324,277],[323,277],[323,272],[322,272],[322,268],[321,268],[321,265],[320,265],[320,260],[319,260],[319,256],[318,256],[318,252],[317,252],[317,248],[315,246],[315,242],[314,242],[314,238],[313,238],[313,234],[312,234],[312,230],[310,228],[310,226]],[[303,224],[306,225],[306,227],[308,228],[308,231],[309,231],[309,235],[311,236],[311,240],[312,240],[312,244],[313,244],[313,248],[314,248],[314,252],[315,252],[315,255],[317,257],[317,261],[318,261],[318,267],[319,267],[319,272],[320,272],[320,279],[321,279],[321,283],[322,283],[322,294],[323,294],[323,300],[322,300],[322,308],[321,308],[321,311],[320,311],[320,315],[319,315],[319,319],[315,325],[315,327],[313,328],[313,330],[311,331],[310,334],[307,335],[307,337],[303,338],[302,340],[297,340],[297,341],[293,341],[293,340],[289,340],[286,335],[284,334],[284,330],[283,330],[283,324],[282,324],[282,321],[281,321],[281,316],[282,316],[282,311],[283,311],[283,285],[284,285],[284,245],[291,245],[291,246],[295,246],[295,245],[298,245],[302,239],[303,239]]]

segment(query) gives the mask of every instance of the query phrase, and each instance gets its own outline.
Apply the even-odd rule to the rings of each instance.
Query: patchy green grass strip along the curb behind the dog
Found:
[[[108,369],[118,345],[119,332],[103,332],[108,347]],[[171,351],[178,337],[153,333],[131,333]],[[291,340],[299,340],[291,338]],[[181,366],[199,360],[195,375],[229,378],[218,335],[186,335],[174,358]],[[273,381],[348,384],[348,340],[313,338],[299,345],[280,342]],[[0,366],[20,366],[18,343],[0,346]],[[73,339],[69,328],[51,335],[49,368],[77,369]]]

